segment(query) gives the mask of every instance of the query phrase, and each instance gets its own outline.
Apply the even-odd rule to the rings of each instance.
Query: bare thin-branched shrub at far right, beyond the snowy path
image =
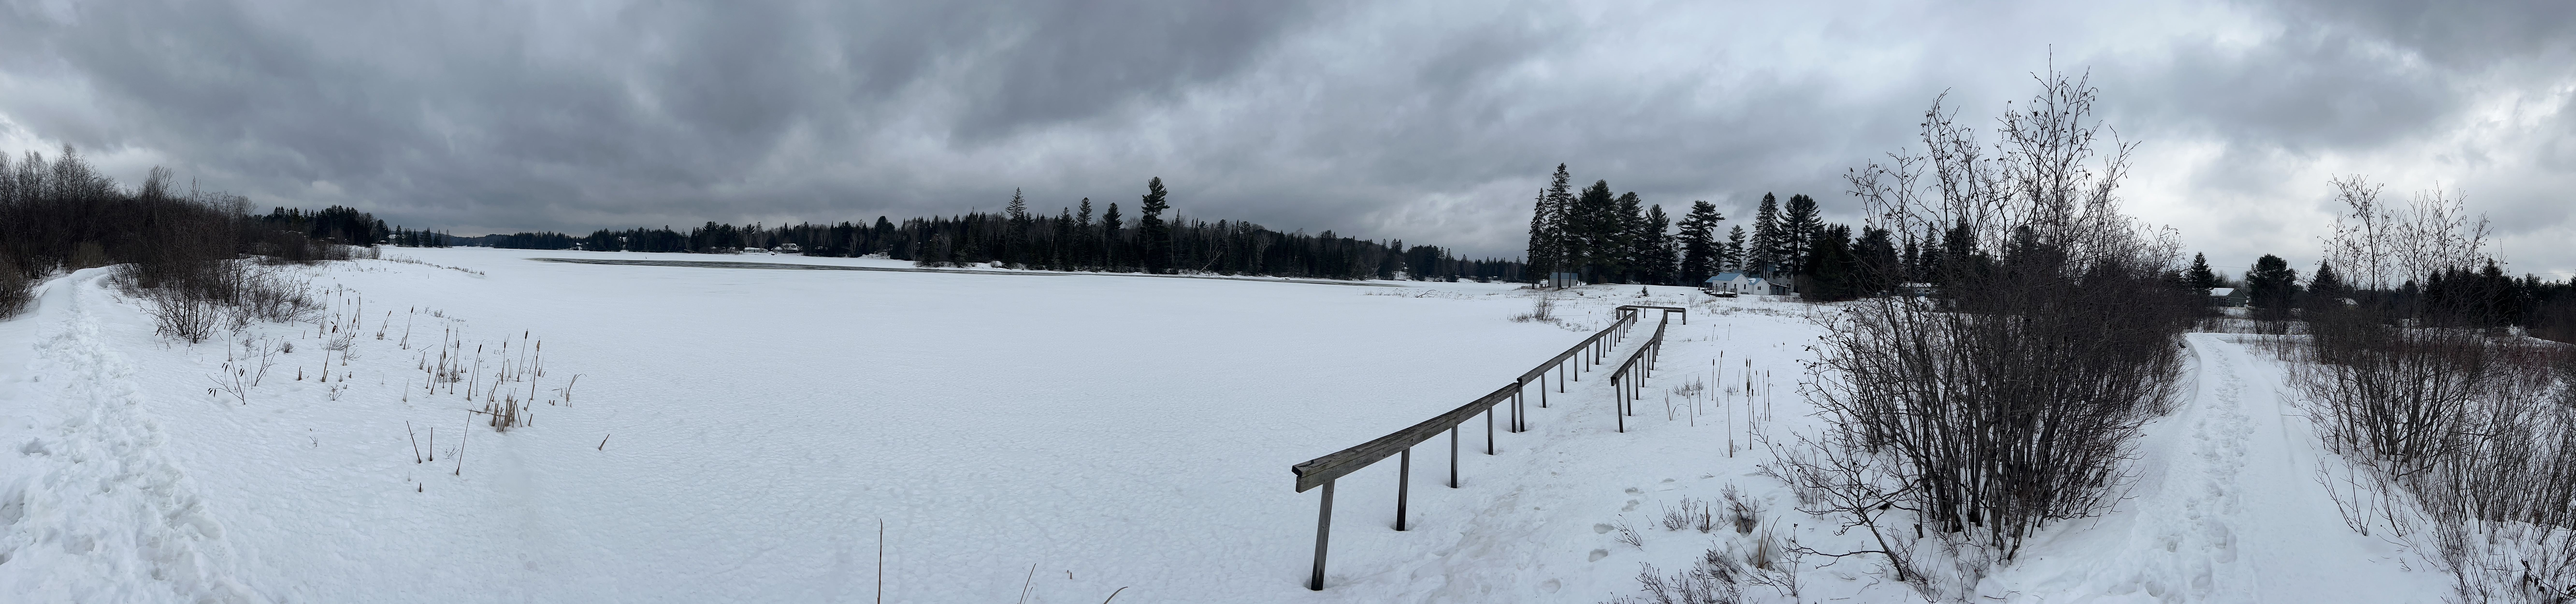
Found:
[[[2331,186],[2349,214],[2326,256],[2354,305],[2311,307],[2290,372],[2354,465],[2344,485],[2321,475],[2347,527],[2450,565],[2458,601],[2576,596],[2576,351],[2504,328],[2486,219],[2458,196]]]

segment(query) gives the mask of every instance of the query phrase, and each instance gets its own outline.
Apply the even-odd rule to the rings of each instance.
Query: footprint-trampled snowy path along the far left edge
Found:
[[[57,281],[62,320],[26,367],[31,416],[59,418],[0,449],[0,594],[15,601],[260,601],[232,573],[224,527],[160,444],[160,423],[93,315],[106,268]]]

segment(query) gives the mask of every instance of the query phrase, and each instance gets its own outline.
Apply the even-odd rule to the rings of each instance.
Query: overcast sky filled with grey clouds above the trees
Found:
[[[1667,209],[1839,176],[2056,52],[2133,214],[2303,274],[2326,178],[2576,271],[2576,3],[21,3],[0,150],[459,235],[1131,206],[1520,256],[1556,163]],[[1741,225],[1741,222],[1734,222]]]

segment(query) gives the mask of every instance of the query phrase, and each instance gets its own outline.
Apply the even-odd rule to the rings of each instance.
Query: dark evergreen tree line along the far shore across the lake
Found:
[[[1172,212],[1162,178],[1146,181],[1136,214],[1118,204],[1097,206],[1082,199],[1056,214],[1030,212],[1012,191],[1002,212],[953,217],[914,217],[894,222],[837,225],[721,225],[688,230],[631,227],[590,235],[513,232],[461,237],[466,245],[531,250],[634,250],[634,253],[732,253],[744,248],[804,256],[884,256],[917,266],[984,266],[1041,271],[1121,271],[1121,274],[1247,274],[1311,279],[1432,279],[1432,281],[1522,281],[1522,263],[1507,258],[1458,258],[1450,248],[1404,245],[1404,240],[1342,237],[1332,230],[1278,232],[1242,219],[1182,219]]]

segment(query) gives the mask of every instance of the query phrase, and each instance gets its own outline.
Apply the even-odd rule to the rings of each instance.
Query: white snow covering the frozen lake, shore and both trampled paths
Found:
[[[1783,539],[1860,545],[1754,475],[1752,439],[1819,428],[1795,387],[1811,305],[1595,287],[1561,323],[1515,323],[1530,292],[1507,284],[392,256],[425,263],[330,263],[309,274],[325,320],[198,346],[98,268],[0,323],[0,599],[876,601],[884,550],[886,601],[1605,601],[1646,563],[1752,550],[1762,532],[1659,524],[1728,485]],[[1303,589],[1316,493],[1291,465],[1463,405],[1638,302],[1692,312],[1625,434],[1587,372],[1499,454],[1471,428],[1458,490],[1448,439],[1422,444],[1409,532],[1394,459],[1347,475],[1329,589]],[[2442,573],[2334,516],[2272,361],[2190,348],[2128,498],[1981,591],[2439,599]],[[466,382],[428,387],[440,364]],[[533,426],[489,428],[487,398],[533,403]],[[1868,558],[1798,568],[1801,601],[1917,601]]]

